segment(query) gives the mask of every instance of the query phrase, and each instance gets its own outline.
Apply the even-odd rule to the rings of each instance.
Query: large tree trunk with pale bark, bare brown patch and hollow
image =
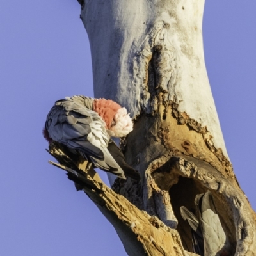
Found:
[[[205,69],[204,0],[79,3],[95,97],[115,100],[134,120],[121,147],[141,182],[116,179],[114,192],[92,176],[95,187],[83,186],[128,255],[193,255],[179,209],[207,190],[228,255],[255,255],[255,212],[228,159]]]

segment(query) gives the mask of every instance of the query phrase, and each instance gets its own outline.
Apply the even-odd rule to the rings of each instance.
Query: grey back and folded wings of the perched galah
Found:
[[[108,151],[105,122],[93,109],[93,99],[82,95],[58,100],[47,115],[45,129],[52,140],[76,150],[88,161],[126,179]]]

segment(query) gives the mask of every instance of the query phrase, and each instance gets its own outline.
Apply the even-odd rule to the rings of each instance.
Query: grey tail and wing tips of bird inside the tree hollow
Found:
[[[225,255],[222,249],[225,249],[226,235],[211,191],[196,195],[195,205],[198,218],[186,207],[180,207],[182,218],[191,227],[193,252],[204,256]]]

